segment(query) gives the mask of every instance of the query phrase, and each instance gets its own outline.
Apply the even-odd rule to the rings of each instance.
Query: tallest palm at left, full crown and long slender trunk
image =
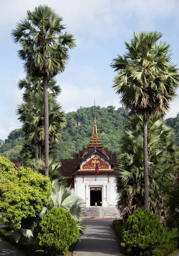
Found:
[[[46,6],[40,5],[12,30],[14,43],[19,43],[18,56],[27,75],[43,77],[45,122],[45,175],[49,175],[49,113],[48,78],[64,72],[69,60],[69,49],[75,47],[72,34],[66,32],[62,17]]]

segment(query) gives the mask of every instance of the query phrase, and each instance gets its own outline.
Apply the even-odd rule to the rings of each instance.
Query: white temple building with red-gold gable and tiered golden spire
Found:
[[[87,148],[75,154],[74,159],[61,160],[61,163],[62,174],[67,178],[69,186],[75,189],[75,193],[84,199],[86,207],[95,206],[95,203],[101,207],[115,207],[116,153],[101,144],[95,117]]]

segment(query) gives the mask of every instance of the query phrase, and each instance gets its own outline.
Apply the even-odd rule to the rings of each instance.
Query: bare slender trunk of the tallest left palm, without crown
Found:
[[[45,176],[49,176],[49,107],[48,107],[48,83],[46,75],[43,76],[44,96],[44,127],[45,127]]]

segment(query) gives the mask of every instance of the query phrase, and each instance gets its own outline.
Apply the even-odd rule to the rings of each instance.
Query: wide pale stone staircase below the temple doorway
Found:
[[[119,219],[121,215],[116,207],[85,207],[83,218]]]

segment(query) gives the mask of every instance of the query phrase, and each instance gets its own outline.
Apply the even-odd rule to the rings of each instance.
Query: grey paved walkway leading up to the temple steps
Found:
[[[73,256],[122,256],[112,223],[106,220],[85,220],[86,238],[77,241]]]

